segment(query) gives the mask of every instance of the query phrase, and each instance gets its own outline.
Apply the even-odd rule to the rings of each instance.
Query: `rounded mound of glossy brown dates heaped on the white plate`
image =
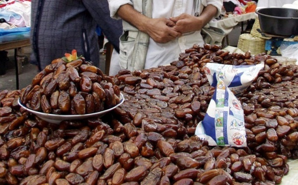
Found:
[[[84,58],[55,59],[24,88],[20,102],[51,114],[89,114],[119,103],[120,91],[102,71]]]

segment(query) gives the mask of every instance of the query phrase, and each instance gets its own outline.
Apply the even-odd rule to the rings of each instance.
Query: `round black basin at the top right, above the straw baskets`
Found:
[[[298,35],[298,9],[268,7],[257,9],[256,13],[262,32],[283,37]]]

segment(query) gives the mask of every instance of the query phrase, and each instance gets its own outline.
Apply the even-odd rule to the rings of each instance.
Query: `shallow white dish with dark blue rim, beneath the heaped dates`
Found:
[[[101,117],[101,116],[105,115],[107,112],[109,112],[109,111],[115,109],[116,107],[118,107],[119,105],[121,105],[124,102],[124,100],[125,99],[124,99],[123,94],[120,93],[120,102],[117,105],[115,105],[114,107],[111,107],[111,108],[103,110],[103,111],[94,112],[94,113],[90,113],[90,114],[82,114],[82,115],[59,115],[59,114],[49,114],[49,113],[44,113],[44,112],[38,112],[38,111],[32,110],[32,109],[26,107],[25,105],[23,105],[21,103],[20,99],[18,99],[18,104],[21,107],[23,107],[25,110],[27,110],[28,112],[35,114],[39,118],[41,118],[49,123],[59,124],[64,120],[85,119],[85,118],[90,118],[90,117]]]

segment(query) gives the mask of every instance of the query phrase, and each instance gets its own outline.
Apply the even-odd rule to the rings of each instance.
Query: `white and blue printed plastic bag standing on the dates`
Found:
[[[257,77],[264,64],[232,66],[208,63],[205,73],[215,92],[196,135],[211,146],[246,147],[244,113],[233,94],[243,92]]]

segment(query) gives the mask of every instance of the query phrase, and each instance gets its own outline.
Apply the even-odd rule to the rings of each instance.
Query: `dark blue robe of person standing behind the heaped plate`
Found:
[[[97,25],[119,51],[122,21],[110,17],[107,0],[32,0],[31,8],[30,62],[39,70],[73,49],[99,67]]]

